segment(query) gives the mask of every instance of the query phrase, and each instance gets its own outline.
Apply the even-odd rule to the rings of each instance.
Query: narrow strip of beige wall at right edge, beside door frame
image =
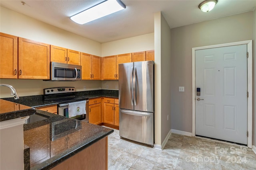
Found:
[[[256,9],[254,9],[254,12],[253,12],[253,47],[252,47],[252,50],[253,50],[253,59],[252,59],[252,62],[253,62],[253,89],[252,89],[252,92],[253,92],[253,99],[252,99],[252,119],[253,119],[253,122],[252,122],[252,145],[254,145],[254,147],[256,147]]]

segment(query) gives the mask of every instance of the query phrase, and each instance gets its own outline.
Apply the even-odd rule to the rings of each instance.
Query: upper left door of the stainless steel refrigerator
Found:
[[[133,63],[118,64],[119,107],[133,110],[132,73]]]

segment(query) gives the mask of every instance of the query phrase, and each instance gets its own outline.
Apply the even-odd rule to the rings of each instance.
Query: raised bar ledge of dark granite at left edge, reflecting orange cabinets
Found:
[[[0,99],[0,121],[26,117],[34,113],[36,110],[32,107]]]

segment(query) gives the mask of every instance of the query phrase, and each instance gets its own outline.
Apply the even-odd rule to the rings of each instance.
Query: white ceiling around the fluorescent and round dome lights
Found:
[[[122,0],[126,9],[84,25],[70,16],[104,0],[0,0],[0,5],[26,16],[105,43],[154,32],[154,13],[161,11],[170,28],[254,10],[256,0],[218,0],[216,7],[201,12],[203,0]]]

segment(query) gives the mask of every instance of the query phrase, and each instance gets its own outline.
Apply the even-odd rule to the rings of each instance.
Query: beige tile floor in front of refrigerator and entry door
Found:
[[[172,133],[163,150],[108,136],[109,170],[256,170],[252,149]]]

